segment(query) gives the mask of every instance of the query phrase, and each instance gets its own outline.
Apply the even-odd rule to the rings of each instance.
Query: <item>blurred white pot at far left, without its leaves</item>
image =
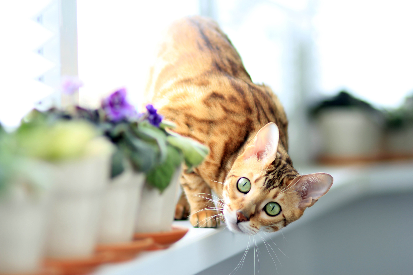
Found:
[[[0,274],[36,273],[41,266],[49,199],[44,188],[47,164],[31,161],[29,167],[43,187],[36,190],[30,177],[19,171],[10,189],[0,194]]]

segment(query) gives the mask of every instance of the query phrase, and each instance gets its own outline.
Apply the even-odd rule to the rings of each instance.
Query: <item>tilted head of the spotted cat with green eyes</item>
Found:
[[[228,173],[223,213],[230,230],[245,234],[280,230],[330,189],[329,174],[299,175],[278,140],[277,125],[268,123]]]

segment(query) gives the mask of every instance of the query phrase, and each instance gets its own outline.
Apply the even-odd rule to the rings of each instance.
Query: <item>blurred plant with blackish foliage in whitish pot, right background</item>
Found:
[[[380,154],[382,114],[370,104],[341,91],[312,109],[322,139],[325,162],[374,159]]]

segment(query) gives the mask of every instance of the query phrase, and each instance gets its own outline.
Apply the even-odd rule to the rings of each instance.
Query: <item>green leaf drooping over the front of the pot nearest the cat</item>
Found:
[[[153,187],[158,188],[161,192],[168,187],[171,182],[173,173],[182,163],[182,155],[173,146],[167,146],[168,156],[161,164],[158,164],[147,173],[146,181]]]

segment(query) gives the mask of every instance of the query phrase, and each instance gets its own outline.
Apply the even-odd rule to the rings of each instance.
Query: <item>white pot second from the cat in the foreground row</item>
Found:
[[[145,174],[131,169],[109,182],[103,198],[99,243],[132,240],[144,183]]]

